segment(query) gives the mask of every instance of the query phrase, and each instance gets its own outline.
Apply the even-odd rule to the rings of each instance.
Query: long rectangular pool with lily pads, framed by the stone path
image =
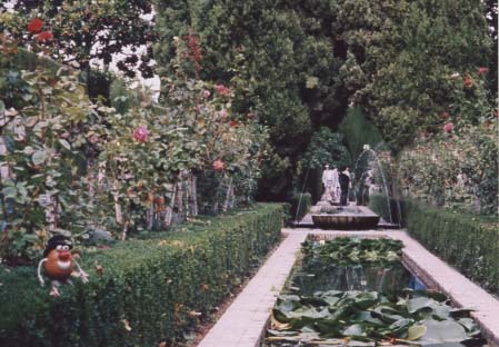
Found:
[[[426,291],[405,268],[401,247],[390,240],[305,242],[262,346],[487,346],[469,310]],[[369,261],[373,249],[377,260]]]

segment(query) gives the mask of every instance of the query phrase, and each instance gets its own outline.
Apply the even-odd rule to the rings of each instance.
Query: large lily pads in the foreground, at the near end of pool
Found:
[[[267,346],[483,346],[470,309],[452,308],[439,293],[406,289],[389,299],[377,291],[317,291],[280,296]]]

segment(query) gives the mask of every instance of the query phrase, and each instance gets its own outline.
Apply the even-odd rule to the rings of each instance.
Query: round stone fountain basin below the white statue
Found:
[[[345,206],[321,208],[319,214],[312,214],[313,224],[321,229],[373,229],[378,226],[380,216],[363,206]]]

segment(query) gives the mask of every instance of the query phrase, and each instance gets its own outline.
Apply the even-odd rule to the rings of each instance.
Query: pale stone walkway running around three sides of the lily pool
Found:
[[[300,244],[309,234],[337,236],[390,237],[403,241],[403,261],[430,287],[452,298],[460,307],[473,308],[490,341],[499,346],[499,300],[487,294],[446,262],[433,256],[405,231],[329,231],[321,229],[283,229],[288,237],[266,261],[224,315],[198,347],[257,347],[267,327],[271,308],[295,264]]]

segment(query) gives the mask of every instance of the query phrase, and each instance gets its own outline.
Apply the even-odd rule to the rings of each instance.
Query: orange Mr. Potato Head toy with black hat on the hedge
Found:
[[[44,280],[41,276],[41,268],[43,267],[43,272],[51,280],[51,296],[60,296],[58,287],[61,284],[69,282],[72,285],[70,277],[74,266],[78,268],[78,276],[81,281],[83,284],[88,282],[88,275],[71,255],[71,249],[72,245],[69,240],[61,235],[57,235],[49,239],[47,248],[43,251],[43,259],[38,264],[38,279],[41,286],[43,286]]]

